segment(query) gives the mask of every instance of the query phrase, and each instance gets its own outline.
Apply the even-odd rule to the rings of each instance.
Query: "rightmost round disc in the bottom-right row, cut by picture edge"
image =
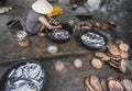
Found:
[[[124,87],[125,91],[132,91],[132,81],[131,80],[122,79],[121,83]]]

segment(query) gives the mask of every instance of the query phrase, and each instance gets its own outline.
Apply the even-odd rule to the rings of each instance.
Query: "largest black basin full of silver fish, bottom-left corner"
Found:
[[[45,70],[40,62],[22,60],[11,66],[0,80],[0,91],[42,91]]]

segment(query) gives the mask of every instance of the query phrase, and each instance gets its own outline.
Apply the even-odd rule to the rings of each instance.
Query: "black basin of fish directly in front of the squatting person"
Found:
[[[67,23],[64,23],[59,30],[47,30],[47,35],[57,43],[65,43],[73,36],[73,29]]]

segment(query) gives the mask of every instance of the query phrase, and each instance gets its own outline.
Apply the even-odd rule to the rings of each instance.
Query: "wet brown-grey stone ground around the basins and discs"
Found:
[[[31,3],[31,2],[30,2]],[[29,4],[30,4],[29,3]],[[53,3],[57,4],[57,3]],[[59,4],[64,9],[64,13],[56,19],[64,22],[69,19],[79,22],[74,16],[68,4]],[[30,5],[26,3],[21,7],[15,7],[11,12],[0,15],[0,77],[6,70],[13,65],[14,60],[21,58],[35,58],[40,61],[47,71],[47,81],[43,91],[85,91],[84,78],[89,75],[97,75],[98,77],[117,77],[131,78],[131,72],[121,73],[118,70],[107,66],[101,70],[96,70],[90,66],[90,58],[95,52],[87,49],[78,41],[77,33],[65,44],[57,44],[48,37],[42,38],[37,36],[31,37],[31,45],[29,47],[21,47],[12,37],[7,29],[7,22],[12,19],[19,19],[24,25],[26,13],[30,11]],[[58,54],[51,56],[46,49],[51,45],[58,46]],[[84,61],[82,68],[75,68],[73,60],[80,58]],[[54,70],[54,62],[62,60],[65,64],[65,69],[62,72]]]

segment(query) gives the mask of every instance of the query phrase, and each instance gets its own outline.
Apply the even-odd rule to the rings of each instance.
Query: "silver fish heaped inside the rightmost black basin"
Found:
[[[87,32],[80,36],[84,44],[87,46],[101,48],[106,45],[105,38],[97,33]]]

